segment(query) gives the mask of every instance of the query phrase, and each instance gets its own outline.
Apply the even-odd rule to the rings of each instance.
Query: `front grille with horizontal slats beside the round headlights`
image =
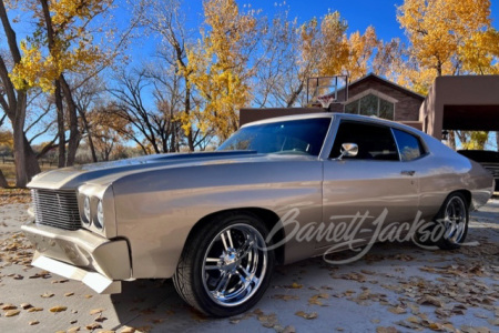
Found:
[[[81,228],[78,199],[74,191],[32,189],[34,219],[38,224],[65,230]]]

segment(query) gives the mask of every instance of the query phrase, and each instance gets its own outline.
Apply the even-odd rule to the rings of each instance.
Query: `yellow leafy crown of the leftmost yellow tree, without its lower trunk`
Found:
[[[88,26],[98,14],[108,10],[112,2],[26,1],[24,6],[33,9],[39,28],[21,41],[21,62],[16,64],[10,74],[14,87],[22,90],[39,87],[53,93],[54,82],[63,72],[88,72],[106,61],[108,54],[93,43],[94,38]],[[44,6],[50,13],[50,24],[44,17]]]

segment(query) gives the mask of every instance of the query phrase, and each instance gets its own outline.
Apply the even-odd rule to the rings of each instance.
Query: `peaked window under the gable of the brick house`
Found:
[[[345,113],[376,115],[388,120],[394,120],[394,111],[395,103],[374,93],[366,94],[345,105]]]

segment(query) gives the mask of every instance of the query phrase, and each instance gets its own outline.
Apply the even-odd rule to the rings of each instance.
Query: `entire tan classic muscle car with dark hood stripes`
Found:
[[[493,180],[413,128],[315,113],[244,125],[215,152],[65,168],[29,186],[34,266],[106,293],[173,278],[192,306],[227,316],[262,297],[274,265],[371,244],[381,222],[434,221],[444,232],[425,244],[458,248]],[[359,228],[338,236],[340,221]]]

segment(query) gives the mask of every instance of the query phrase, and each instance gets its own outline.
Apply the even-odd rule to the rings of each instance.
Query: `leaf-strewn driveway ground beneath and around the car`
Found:
[[[345,265],[282,266],[255,309],[222,320],[193,311],[169,280],[100,295],[30,266],[27,208],[0,203],[0,332],[499,332],[498,199],[472,213],[475,246],[386,243]]]

